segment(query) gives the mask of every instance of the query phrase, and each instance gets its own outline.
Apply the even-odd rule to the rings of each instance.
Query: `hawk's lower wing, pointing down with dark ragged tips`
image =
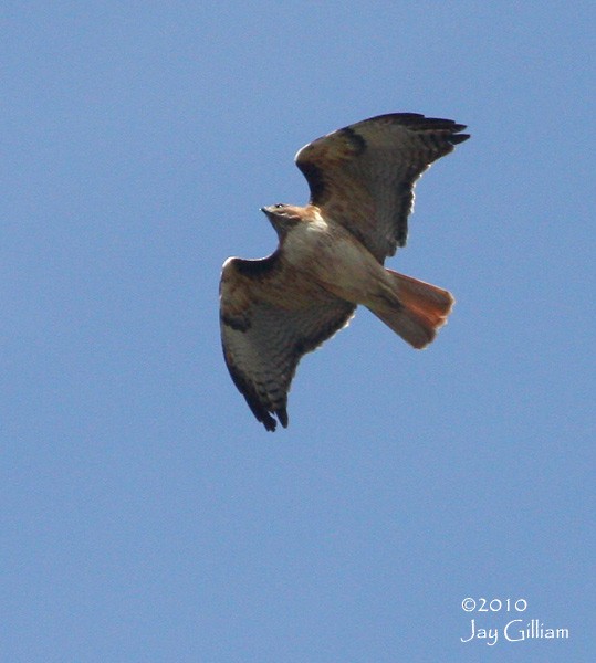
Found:
[[[302,356],[345,327],[355,306],[302,282],[279,253],[230,257],[220,284],[220,324],[228,370],[254,417],[287,425],[287,392]]]

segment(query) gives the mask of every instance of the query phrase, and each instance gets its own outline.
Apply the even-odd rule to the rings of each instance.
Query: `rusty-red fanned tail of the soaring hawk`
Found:
[[[426,347],[447,322],[453,296],[430,283],[386,272],[393,280],[393,296],[375,298],[367,307],[411,346]]]

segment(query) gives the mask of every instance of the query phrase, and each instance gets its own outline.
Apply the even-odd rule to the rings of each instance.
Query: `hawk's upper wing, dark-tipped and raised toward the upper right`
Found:
[[[406,244],[416,180],[467,140],[452,119],[394,113],[358,122],[296,155],[311,203],[347,228],[379,262]]]

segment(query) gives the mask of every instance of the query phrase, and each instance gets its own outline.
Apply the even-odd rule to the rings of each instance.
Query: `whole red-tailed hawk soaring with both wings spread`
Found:
[[[220,284],[226,364],[268,431],[287,427],[287,392],[302,356],[366,306],[415,348],[445,324],[450,293],[383,266],[406,244],[416,180],[470,136],[451,119],[395,113],[303,147],[306,207],[262,208],[279,235],[269,257],[230,257]]]

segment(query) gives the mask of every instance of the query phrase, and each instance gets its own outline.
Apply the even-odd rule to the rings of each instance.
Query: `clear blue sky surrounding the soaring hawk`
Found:
[[[595,14],[3,3],[3,660],[589,660]],[[302,145],[404,110],[472,134],[388,263],[454,313],[416,352],[359,311],[266,433],[221,264],[275,248]]]

